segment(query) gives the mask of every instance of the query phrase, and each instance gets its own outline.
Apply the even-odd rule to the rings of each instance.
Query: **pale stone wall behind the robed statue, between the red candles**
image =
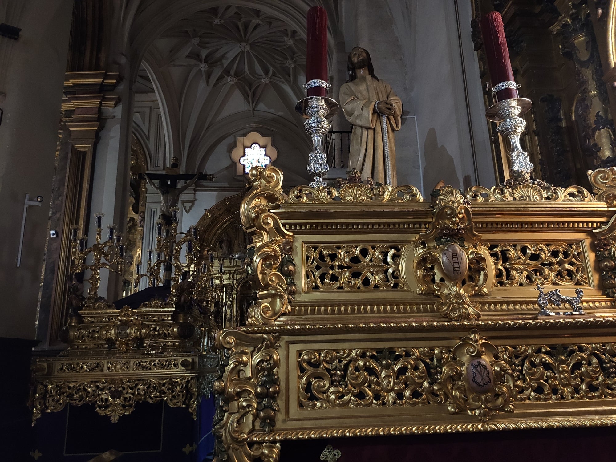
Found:
[[[398,184],[413,184],[424,195],[441,179],[458,188],[493,185],[469,2],[344,0],[341,11],[338,87],[346,80],[348,52],[361,46],[404,104],[396,133]],[[336,126],[345,122],[339,116]]]

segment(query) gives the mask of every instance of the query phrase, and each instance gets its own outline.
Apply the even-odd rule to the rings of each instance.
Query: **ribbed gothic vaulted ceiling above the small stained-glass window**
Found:
[[[294,106],[304,96],[305,17],[311,5],[229,3],[201,2],[212,6],[182,17],[169,10],[177,17],[160,25],[164,28],[142,55],[164,114],[168,155],[180,158],[186,171],[205,169],[226,138],[253,129],[273,131],[291,145],[299,140],[306,156],[309,152]]]

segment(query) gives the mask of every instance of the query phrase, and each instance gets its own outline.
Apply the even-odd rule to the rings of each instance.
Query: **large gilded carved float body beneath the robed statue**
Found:
[[[241,220],[258,299],[219,331],[217,460],[280,442],[616,424],[616,182],[282,190]],[[585,315],[538,316],[537,286]]]

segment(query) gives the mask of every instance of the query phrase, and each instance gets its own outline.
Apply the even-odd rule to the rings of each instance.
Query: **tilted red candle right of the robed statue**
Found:
[[[481,34],[484,38],[485,59],[488,62],[492,86],[506,81],[513,82],[505,27],[500,13],[492,11],[481,18]],[[515,88],[506,88],[496,92],[497,101],[517,98],[517,96]]]

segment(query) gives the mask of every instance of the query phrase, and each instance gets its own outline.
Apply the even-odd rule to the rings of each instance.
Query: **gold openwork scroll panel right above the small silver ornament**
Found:
[[[588,285],[582,242],[490,244],[496,286]]]

